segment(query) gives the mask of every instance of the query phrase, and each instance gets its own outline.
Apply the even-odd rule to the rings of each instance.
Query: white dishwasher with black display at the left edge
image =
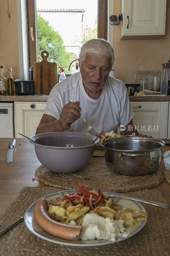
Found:
[[[14,103],[0,102],[0,137],[14,138]]]

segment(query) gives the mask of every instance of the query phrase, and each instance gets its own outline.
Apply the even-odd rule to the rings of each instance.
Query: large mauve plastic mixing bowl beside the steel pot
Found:
[[[81,170],[93,156],[99,139],[93,135],[79,132],[48,132],[31,137],[35,153],[47,169],[58,173],[72,173]],[[72,144],[73,147],[67,147]]]

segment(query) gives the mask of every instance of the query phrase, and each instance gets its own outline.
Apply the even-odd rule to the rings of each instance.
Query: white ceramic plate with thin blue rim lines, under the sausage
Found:
[[[63,198],[65,193],[68,193],[68,194],[75,193],[75,190],[66,190],[66,191],[57,192],[57,193],[54,193],[54,194],[51,194],[48,196],[44,196],[43,198],[46,198],[46,200],[48,202],[50,202],[51,200],[53,202],[56,202],[56,197]],[[138,202],[136,202],[134,200],[119,198],[118,195],[120,195],[120,194],[118,194],[118,193],[103,190],[103,194],[107,195],[107,196],[117,195],[117,198],[114,198],[114,200],[121,206],[128,207],[130,209],[138,209],[140,211],[146,212],[145,208],[141,204],[139,204]],[[127,239],[127,238],[135,235],[137,232],[139,232],[139,230],[141,230],[145,226],[145,223],[147,221],[147,220],[139,221],[135,225],[127,227],[126,232],[128,232],[129,235],[126,237],[117,238],[115,241],[109,241],[109,240],[90,240],[90,241],[79,240],[76,242],[69,241],[69,240],[65,240],[65,239],[50,235],[49,233],[47,233],[45,230],[43,230],[39,226],[39,224],[37,223],[37,221],[35,219],[35,214],[34,214],[37,201],[34,202],[32,205],[30,205],[30,207],[25,212],[25,216],[24,216],[25,225],[34,235],[39,236],[42,239],[45,239],[47,241],[50,241],[50,242],[53,242],[56,244],[65,244],[65,245],[74,245],[74,246],[97,246],[97,245],[117,243],[117,242],[120,242],[124,239]]]

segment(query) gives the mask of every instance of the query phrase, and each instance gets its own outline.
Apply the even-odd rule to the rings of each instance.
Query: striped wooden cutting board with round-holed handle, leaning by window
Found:
[[[57,63],[47,61],[49,53],[42,51],[41,62],[33,63],[33,80],[35,93],[49,94],[54,85],[57,84]]]

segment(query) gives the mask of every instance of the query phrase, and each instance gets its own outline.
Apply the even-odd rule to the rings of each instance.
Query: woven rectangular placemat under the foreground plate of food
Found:
[[[24,215],[30,204],[42,196],[59,191],[54,187],[25,187],[22,188],[15,201],[2,214],[0,228]],[[144,189],[124,193],[141,198],[165,202],[157,190]],[[157,206],[143,204],[148,220],[145,227],[136,235],[119,243],[94,246],[77,247],[54,244],[33,235],[21,222],[6,234],[0,237],[1,256],[169,256],[170,210]]]

